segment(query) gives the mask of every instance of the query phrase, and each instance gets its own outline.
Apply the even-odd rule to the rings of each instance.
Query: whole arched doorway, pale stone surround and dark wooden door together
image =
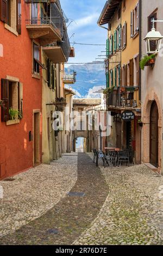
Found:
[[[156,117],[155,117],[156,115]],[[159,98],[154,91],[146,97],[143,106],[143,150],[142,160],[161,170],[162,112]],[[153,149],[152,149],[153,148]]]

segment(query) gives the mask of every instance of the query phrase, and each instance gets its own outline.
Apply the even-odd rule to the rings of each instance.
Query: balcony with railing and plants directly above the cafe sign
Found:
[[[108,108],[121,110],[140,108],[137,93],[139,93],[139,86],[117,87],[106,99]]]

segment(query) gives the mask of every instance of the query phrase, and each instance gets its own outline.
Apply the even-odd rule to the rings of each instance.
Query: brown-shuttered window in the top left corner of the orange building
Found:
[[[0,6],[1,21],[21,34],[21,0],[0,0]]]

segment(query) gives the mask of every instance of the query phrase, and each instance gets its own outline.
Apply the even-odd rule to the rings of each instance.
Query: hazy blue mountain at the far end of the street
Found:
[[[77,93],[76,97],[87,97],[89,90],[93,88],[96,92],[105,86],[105,65],[104,64],[85,64],[85,65],[71,65],[67,69],[77,72],[77,82],[71,84],[74,92]],[[92,94],[92,97],[93,94]],[[96,96],[97,97],[97,96]]]

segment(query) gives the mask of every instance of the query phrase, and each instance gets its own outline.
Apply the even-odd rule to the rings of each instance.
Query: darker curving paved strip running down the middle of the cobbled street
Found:
[[[85,197],[66,196],[45,215],[11,235],[0,239],[1,245],[70,245],[97,217],[108,195],[108,186],[91,158],[78,154],[78,179],[73,192]],[[58,234],[49,234],[57,229]],[[50,230],[50,231],[48,231]]]

